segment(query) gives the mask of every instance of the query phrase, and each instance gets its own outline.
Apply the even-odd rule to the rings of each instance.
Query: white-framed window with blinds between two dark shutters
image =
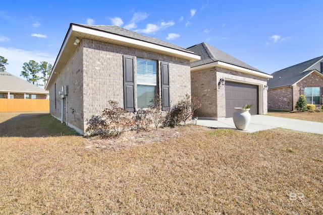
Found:
[[[157,89],[157,61],[137,57],[137,107],[146,108]]]

